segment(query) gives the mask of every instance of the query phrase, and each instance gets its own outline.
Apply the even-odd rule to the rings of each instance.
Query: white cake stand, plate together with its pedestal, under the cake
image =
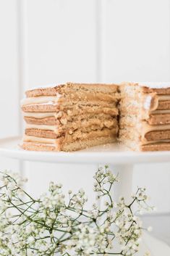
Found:
[[[132,152],[117,144],[95,146],[78,152],[28,152],[20,149],[21,137],[0,139],[0,156],[33,162],[55,162],[82,165],[109,165],[114,173],[119,173],[119,185],[114,198],[132,194],[133,166],[140,163],[170,162],[170,152]]]

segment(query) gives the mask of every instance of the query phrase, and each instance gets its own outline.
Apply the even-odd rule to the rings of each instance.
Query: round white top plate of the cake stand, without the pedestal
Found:
[[[0,139],[0,155],[18,160],[62,163],[135,164],[170,162],[170,152],[132,152],[117,144],[94,146],[78,152],[33,152],[20,149],[20,137]]]

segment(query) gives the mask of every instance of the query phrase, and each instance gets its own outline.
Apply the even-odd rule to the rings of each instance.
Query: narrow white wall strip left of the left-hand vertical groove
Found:
[[[17,0],[0,1],[0,138],[19,133]],[[19,170],[17,160],[0,157],[0,168]]]

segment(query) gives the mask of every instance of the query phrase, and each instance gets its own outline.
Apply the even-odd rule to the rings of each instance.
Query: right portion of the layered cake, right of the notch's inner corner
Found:
[[[122,83],[119,141],[133,150],[170,150],[170,84]]]

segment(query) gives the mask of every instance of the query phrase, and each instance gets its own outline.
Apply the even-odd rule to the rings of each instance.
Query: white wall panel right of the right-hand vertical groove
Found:
[[[101,1],[101,18],[103,82],[170,80],[169,0]],[[135,166],[133,189],[146,186],[160,212],[170,210],[169,181],[169,164]]]

